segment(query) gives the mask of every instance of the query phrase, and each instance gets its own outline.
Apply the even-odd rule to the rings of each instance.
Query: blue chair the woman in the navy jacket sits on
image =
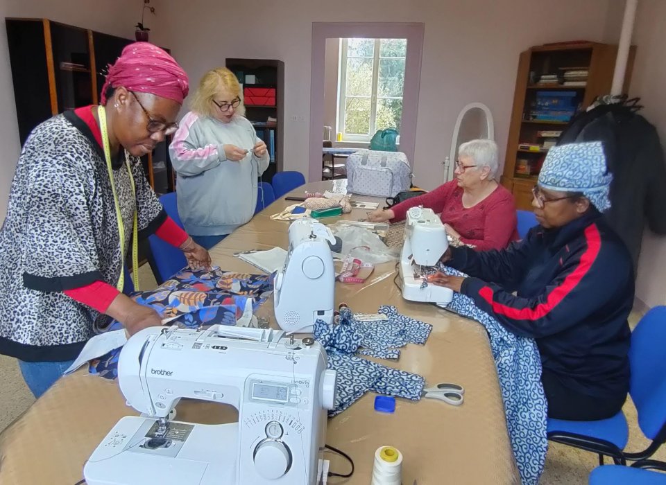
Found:
[[[599,464],[604,456],[617,464],[626,460],[645,461],[666,441],[666,306],[647,312],[631,334],[629,394],[638,412],[638,426],[651,439],[640,452],[623,452],[629,436],[622,412],[599,421],[564,421],[549,419],[550,441],[595,452]]]

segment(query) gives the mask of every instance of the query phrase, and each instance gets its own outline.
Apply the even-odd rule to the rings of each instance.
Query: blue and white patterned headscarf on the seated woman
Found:
[[[539,173],[539,186],[562,192],[582,192],[599,211],[610,209],[608,188],[613,175],[606,168],[600,141],[551,148]]]

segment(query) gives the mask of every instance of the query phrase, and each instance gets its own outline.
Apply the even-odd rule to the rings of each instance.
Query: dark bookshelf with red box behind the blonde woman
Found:
[[[264,140],[270,163],[260,179],[271,182],[283,170],[284,62],[274,59],[227,59],[241,83],[245,116]]]

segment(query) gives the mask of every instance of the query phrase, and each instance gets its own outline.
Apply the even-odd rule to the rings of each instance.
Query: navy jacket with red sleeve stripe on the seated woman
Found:
[[[531,337],[543,368],[589,396],[629,391],[629,251],[594,209],[558,229],[535,227],[500,251],[452,248],[461,292],[516,335]]]

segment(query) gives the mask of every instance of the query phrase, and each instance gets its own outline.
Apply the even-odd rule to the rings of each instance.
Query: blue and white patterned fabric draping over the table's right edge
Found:
[[[438,270],[454,276],[467,276],[444,265]],[[548,405],[541,384],[541,358],[536,343],[506,330],[464,294],[454,292],[447,310],[476,320],[488,330],[520,479],[523,485],[537,484],[548,450]]]

